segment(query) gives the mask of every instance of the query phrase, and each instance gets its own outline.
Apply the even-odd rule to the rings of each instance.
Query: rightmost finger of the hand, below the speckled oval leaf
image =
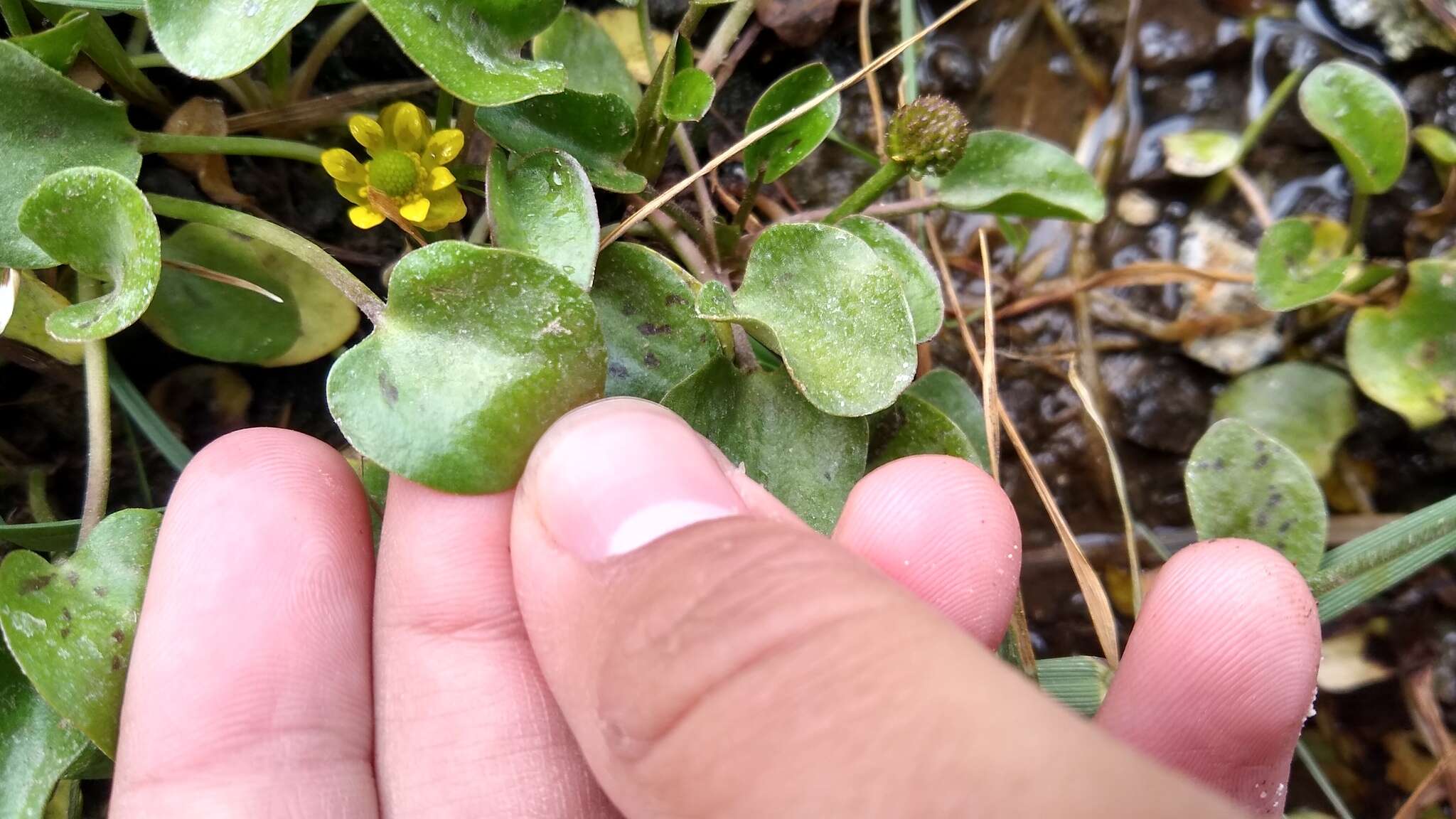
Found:
[[[1319,615],[1294,565],[1252,541],[1210,541],[1158,573],[1098,723],[1277,816],[1318,669]]]

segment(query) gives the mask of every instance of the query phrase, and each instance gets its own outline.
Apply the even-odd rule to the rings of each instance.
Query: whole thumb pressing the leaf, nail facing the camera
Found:
[[[568,415],[521,481],[526,628],[629,819],[1239,815],[847,549],[747,512],[705,442],[638,401]]]

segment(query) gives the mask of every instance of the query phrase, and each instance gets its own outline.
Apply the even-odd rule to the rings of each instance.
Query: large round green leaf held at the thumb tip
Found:
[[[329,372],[329,410],[390,472],[498,493],[552,421],[601,396],[606,367],[591,300],[563,273],[434,242],[395,265],[383,322]]]

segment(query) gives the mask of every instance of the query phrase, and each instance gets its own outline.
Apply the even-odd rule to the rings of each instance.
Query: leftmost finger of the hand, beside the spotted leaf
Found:
[[[374,816],[358,479],[285,430],[182,472],[127,676],[114,818]]]

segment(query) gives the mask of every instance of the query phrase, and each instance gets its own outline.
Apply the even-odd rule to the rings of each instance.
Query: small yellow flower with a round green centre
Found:
[[[370,229],[384,222],[370,189],[392,201],[399,216],[421,230],[440,230],[464,219],[464,200],[454,173],[446,168],[464,147],[462,131],[431,133],[424,111],[396,102],[380,112],[379,121],[364,115],[349,118],[349,133],[368,152],[368,162],[335,147],[323,152],[323,169],[333,176],[339,195],[354,203],[349,222],[355,226]]]

